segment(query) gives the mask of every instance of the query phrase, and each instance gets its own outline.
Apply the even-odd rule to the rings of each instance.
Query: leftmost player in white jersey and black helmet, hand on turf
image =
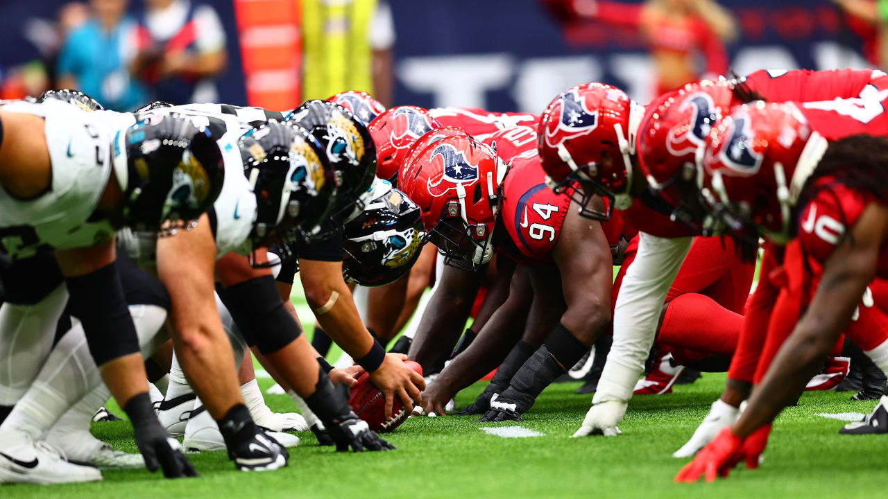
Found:
[[[65,277],[65,286],[47,289],[35,303],[7,302],[0,309],[2,350],[6,361],[15,360],[15,368],[4,368],[15,379],[4,380],[2,403],[12,406],[35,378],[67,303],[83,323],[110,392],[130,416],[149,469],[159,460],[167,476],[193,475],[151,408],[138,336],[112,265],[114,234],[122,226],[156,231],[168,219],[198,218],[221,188],[221,156],[209,133],[181,117],[112,129],[95,115],[58,99],[0,108],[5,251],[18,259],[55,249]],[[30,331],[19,335],[22,328]],[[5,481],[101,479],[99,471],[36,446],[42,436],[3,431]]]

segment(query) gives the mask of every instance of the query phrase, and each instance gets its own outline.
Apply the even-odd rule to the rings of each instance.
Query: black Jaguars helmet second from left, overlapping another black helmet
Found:
[[[277,244],[295,255],[299,235],[327,218],[335,179],[321,144],[295,123],[263,123],[238,140],[243,171],[256,194],[254,248]]]

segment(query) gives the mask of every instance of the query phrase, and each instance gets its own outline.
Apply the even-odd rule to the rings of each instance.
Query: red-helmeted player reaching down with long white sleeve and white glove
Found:
[[[836,95],[851,97],[857,95],[860,88],[874,77],[871,71],[844,70],[820,73],[798,71],[791,74],[760,71],[749,75],[742,85],[733,84],[732,91],[738,102],[749,99],[750,91],[756,91],[775,100],[794,97],[817,99],[817,96],[826,96],[823,98],[829,99],[831,98],[829,96]],[[781,78],[788,79],[781,80]],[[598,89],[596,93],[599,96],[599,103],[607,103],[612,101],[609,96],[619,95],[614,93],[612,87],[593,85]],[[645,161],[639,161],[643,154],[636,154],[636,148],[641,143],[642,137],[654,131],[655,123],[659,121],[657,112],[659,105],[647,107],[646,115],[640,107],[631,104],[622,105],[621,117],[615,123],[606,124],[611,113],[599,114],[599,110],[595,107],[600,104],[591,104],[591,101],[579,99],[578,92],[591,90],[592,87],[579,85],[565,92],[559,99],[553,101],[553,105],[558,104],[559,100],[563,101],[563,105],[551,108],[551,111],[558,110],[559,113],[550,113],[543,117],[554,139],[541,141],[543,167],[552,178],[552,186],[556,189],[560,188],[559,185],[567,185],[571,179],[574,179],[586,186],[587,194],[595,192],[614,199],[614,207],[618,210],[628,209],[624,216],[630,224],[637,225],[642,234],[639,236],[638,256],[622,282],[620,298],[614,308],[614,330],[617,331],[617,335],[614,337],[614,345],[602,374],[602,383],[599,383],[593,407],[581,429],[576,432],[576,436],[591,432],[617,434],[616,423],[625,413],[627,400],[631,396],[638,375],[644,369],[647,352],[654,339],[654,331],[662,317],[662,298],[666,297],[674,281],[673,278],[693,242],[693,236],[701,234],[702,223],[702,220],[688,223],[702,215],[700,210],[693,210],[693,205],[677,207],[668,201],[668,196],[655,195],[648,190],[648,186],[653,186],[658,192],[667,190],[667,187],[684,189],[686,184],[690,184],[692,189],[694,187],[693,178],[688,178],[688,169],[678,168],[688,160],[670,162],[672,169],[658,171],[655,165],[648,166]],[[658,102],[675,101],[676,99],[670,101],[670,98],[674,97],[663,96]],[[561,110],[570,112],[563,114]],[[694,109],[686,107],[686,111],[691,112]],[[562,121],[562,117],[565,117],[566,121]],[[686,126],[673,131],[673,134],[676,137],[688,131],[696,134],[706,131],[711,126],[710,118],[700,121],[701,123],[696,123],[695,120],[694,126]],[[697,124],[703,126],[696,126]],[[639,126],[645,128],[639,130]],[[599,145],[587,143],[586,146],[581,146],[583,138],[590,137],[593,131],[596,136],[603,134],[601,143]],[[638,144],[635,139],[637,136]],[[660,135],[662,138],[667,136],[667,133]],[[695,137],[697,142],[702,142],[700,140],[702,135]],[[660,147],[666,146],[661,144]],[[691,154],[694,153],[682,152],[676,155],[685,158]],[[693,162],[691,164],[693,165]],[[667,171],[668,175],[663,175]],[[591,199],[591,195],[587,194],[575,198],[583,207],[585,214],[607,218],[609,213],[596,213],[586,207],[587,201]],[[684,199],[694,198],[683,198],[683,202]],[[656,289],[656,293],[653,293],[652,289]]]

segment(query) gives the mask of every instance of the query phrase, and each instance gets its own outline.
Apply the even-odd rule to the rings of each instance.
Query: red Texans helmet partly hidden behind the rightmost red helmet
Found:
[[[638,129],[638,166],[647,184],[676,208],[679,218],[704,215],[697,188],[698,149],[736,104],[731,82],[703,80],[671,91],[646,107]]]

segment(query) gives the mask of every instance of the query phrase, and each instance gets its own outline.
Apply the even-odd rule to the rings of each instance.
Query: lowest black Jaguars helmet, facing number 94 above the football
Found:
[[[383,286],[408,273],[425,243],[421,215],[416,203],[398,189],[385,189],[370,200],[345,224],[345,281]]]

